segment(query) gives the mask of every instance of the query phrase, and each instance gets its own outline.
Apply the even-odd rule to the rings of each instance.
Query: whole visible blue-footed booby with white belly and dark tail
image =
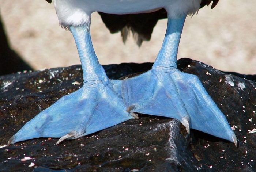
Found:
[[[46,0],[51,3],[51,0]],[[71,31],[83,69],[83,86],[40,112],[13,135],[8,145],[38,137],[76,139],[106,129],[137,113],[177,118],[186,127],[234,142],[225,115],[197,76],[177,69],[181,32],[188,15],[212,0],[53,0],[60,25]],[[213,0],[212,8],[218,3]],[[149,40],[158,19],[167,18],[162,47],[151,70],[125,80],[110,80],[99,64],[90,37],[91,14],[99,12],[115,32],[125,27]],[[137,15],[138,14],[138,15]],[[127,16],[129,16],[129,19]],[[135,21],[135,22],[133,22]]]

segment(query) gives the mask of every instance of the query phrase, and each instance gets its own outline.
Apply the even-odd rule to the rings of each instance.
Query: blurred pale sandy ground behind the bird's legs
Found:
[[[221,0],[211,9],[188,17],[178,58],[202,61],[216,69],[256,74],[256,1]],[[33,68],[80,64],[69,31],[61,29],[53,4],[44,0],[0,0],[0,12],[11,47]],[[91,37],[101,64],[154,62],[162,45],[167,20],[160,20],[152,39],[139,48],[132,37],[110,34],[97,13]]]

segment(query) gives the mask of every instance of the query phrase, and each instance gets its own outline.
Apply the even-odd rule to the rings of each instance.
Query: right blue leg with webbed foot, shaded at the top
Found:
[[[237,145],[225,116],[197,76],[177,69],[177,52],[185,16],[168,18],[167,31],[152,69],[123,80],[122,96],[128,112],[177,118],[186,127]]]

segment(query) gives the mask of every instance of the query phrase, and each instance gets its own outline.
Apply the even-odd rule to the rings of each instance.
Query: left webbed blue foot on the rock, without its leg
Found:
[[[76,139],[134,118],[125,112],[123,99],[113,89],[112,84],[117,83],[116,87],[120,82],[85,83],[27,122],[8,145],[38,137],[60,138],[56,143],[59,144],[64,139]]]

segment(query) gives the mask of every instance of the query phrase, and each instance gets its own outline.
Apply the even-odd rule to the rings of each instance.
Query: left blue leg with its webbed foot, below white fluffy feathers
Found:
[[[70,26],[83,69],[83,87],[63,96],[27,122],[8,145],[38,138],[76,139],[106,129],[128,119],[138,118],[126,112],[121,97],[121,81],[109,80],[95,55],[89,25]],[[115,91],[116,90],[116,91]]]

